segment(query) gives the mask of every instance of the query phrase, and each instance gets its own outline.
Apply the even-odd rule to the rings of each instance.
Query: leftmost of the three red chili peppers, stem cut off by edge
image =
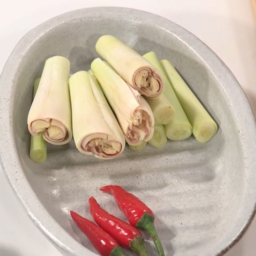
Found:
[[[116,240],[108,235],[102,228],[98,227],[92,221],[71,211],[70,215],[76,222],[76,225],[89,238],[95,249],[102,256],[125,256]]]

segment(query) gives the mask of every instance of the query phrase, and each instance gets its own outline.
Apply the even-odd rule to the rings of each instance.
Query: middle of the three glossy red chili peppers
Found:
[[[95,222],[123,247],[140,256],[147,256],[147,249],[140,231],[115,216],[104,211],[94,197],[89,198],[90,213]]]

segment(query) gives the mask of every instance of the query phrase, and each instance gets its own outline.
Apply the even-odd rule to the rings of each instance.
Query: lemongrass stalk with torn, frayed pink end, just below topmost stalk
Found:
[[[137,101],[129,86],[99,58],[92,61],[92,72],[114,110],[129,145],[137,146],[142,140],[151,139],[154,132],[154,116],[142,97]]]

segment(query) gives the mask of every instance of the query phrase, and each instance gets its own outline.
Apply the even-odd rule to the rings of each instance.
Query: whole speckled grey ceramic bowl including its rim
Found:
[[[87,70],[103,34],[117,36],[141,54],[153,50],[171,60],[220,126],[216,137],[207,144],[192,137],[169,141],[143,152],[127,148],[109,161],[80,154],[74,143],[49,145],[46,163],[33,163],[27,114],[44,61],[63,55],[71,72]],[[98,190],[107,184],[124,186],[152,208],[168,256],[222,255],[252,221],[256,128],[250,105],[225,64],[171,21],[112,7],[60,15],[20,40],[0,84],[1,166],[31,219],[63,254],[97,255],[69,217],[72,209],[90,218],[89,196],[123,218],[113,198]],[[145,238],[149,255],[156,255]]]

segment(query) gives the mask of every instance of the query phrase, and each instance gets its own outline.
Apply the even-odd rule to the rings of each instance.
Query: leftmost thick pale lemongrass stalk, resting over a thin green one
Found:
[[[36,96],[28,113],[28,131],[54,145],[72,139],[71,106],[68,90],[69,60],[54,56],[45,61]]]

